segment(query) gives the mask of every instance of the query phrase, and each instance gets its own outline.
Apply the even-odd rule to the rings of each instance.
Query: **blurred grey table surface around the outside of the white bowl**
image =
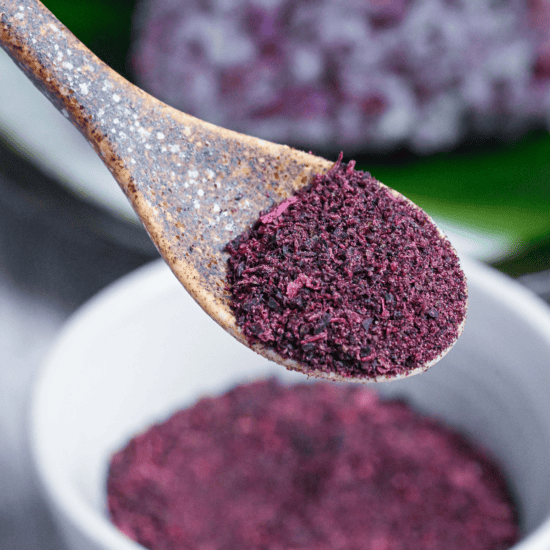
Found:
[[[157,257],[132,238],[0,146],[0,549],[64,548],[30,458],[33,382],[67,317]],[[550,303],[550,270],[519,280]]]

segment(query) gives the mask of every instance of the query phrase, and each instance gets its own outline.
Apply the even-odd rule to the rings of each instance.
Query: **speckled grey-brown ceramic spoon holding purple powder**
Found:
[[[249,345],[230,307],[224,248],[261,211],[333,163],[165,105],[105,65],[37,0],[0,0],[0,45],[90,142],[187,291]],[[407,375],[426,370],[452,344]],[[341,379],[269,348],[249,347],[287,368]]]

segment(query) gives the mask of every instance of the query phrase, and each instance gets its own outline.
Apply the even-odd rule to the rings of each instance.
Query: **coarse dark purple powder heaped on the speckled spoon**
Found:
[[[458,337],[466,280],[423,211],[341,159],[227,246],[232,308],[304,372],[406,375]]]

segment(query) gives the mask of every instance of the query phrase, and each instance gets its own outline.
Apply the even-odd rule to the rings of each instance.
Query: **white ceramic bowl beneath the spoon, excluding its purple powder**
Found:
[[[517,499],[517,550],[550,548],[550,313],[510,279],[464,262],[466,329],[427,373],[383,384],[488,448]],[[36,466],[71,550],[137,550],[109,523],[111,453],[205,393],[268,364],[209,319],[162,263],[126,277],[67,324],[44,365],[31,414]],[[421,550],[421,549],[419,549]]]

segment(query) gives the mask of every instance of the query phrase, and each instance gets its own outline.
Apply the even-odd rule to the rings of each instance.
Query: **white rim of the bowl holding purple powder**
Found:
[[[469,282],[475,282],[478,288],[513,310],[546,340],[550,348],[550,309],[542,299],[511,277],[481,262],[461,258],[461,263]],[[120,314],[121,307],[128,308],[128,304],[139,305],[151,297],[176,288],[177,284],[164,262],[156,260],[100,291],[66,321],[34,384],[29,414],[29,438],[32,460],[41,488],[53,507],[54,515],[58,519],[61,515],[65,516],[73,527],[78,526],[98,548],[137,550],[141,546],[83,501],[72,484],[64,479],[62,470],[50,467],[47,461],[41,459],[47,446],[40,412],[47,400],[47,380],[50,372],[55,370],[58,358],[66,356],[75,346],[78,347],[77,341],[85,334],[85,327],[89,323],[105,318],[109,312]],[[550,516],[510,550],[546,550],[549,543]]]

